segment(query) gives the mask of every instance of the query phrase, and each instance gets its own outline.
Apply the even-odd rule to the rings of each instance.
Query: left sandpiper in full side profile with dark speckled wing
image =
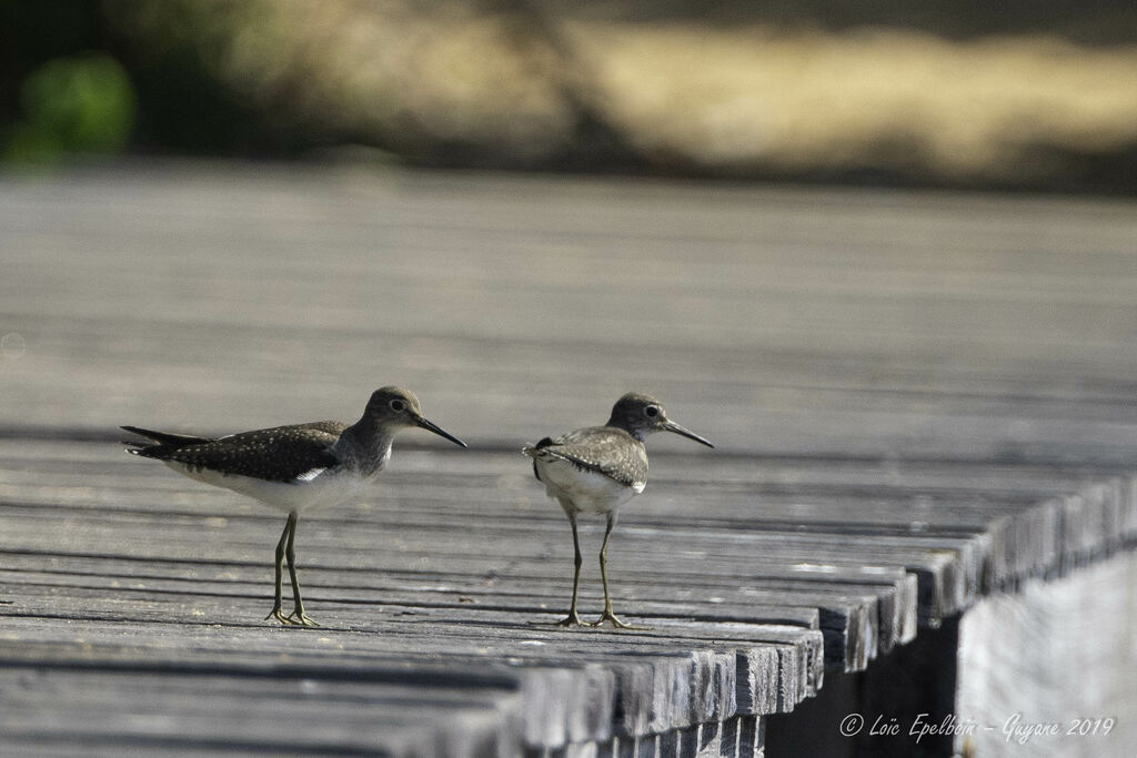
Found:
[[[122,428],[156,444],[124,442],[127,452],[155,458],[190,478],[248,495],[288,514],[276,543],[276,595],[272,613],[281,624],[318,626],[304,613],[296,577],[296,523],[301,510],[342,505],[358,497],[391,458],[391,441],[408,426],[418,426],[466,447],[458,438],[423,418],[418,398],[397,386],[375,390],[360,418],[315,422],[241,432],[219,439]],[[288,558],[294,607],[281,613],[281,574]]]

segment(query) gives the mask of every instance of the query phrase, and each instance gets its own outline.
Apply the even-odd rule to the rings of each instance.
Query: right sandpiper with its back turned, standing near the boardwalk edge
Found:
[[[648,394],[629,392],[612,407],[604,426],[589,426],[557,439],[545,438],[522,448],[533,459],[533,475],[545,484],[550,498],[564,508],[572,525],[573,563],[572,603],[561,626],[599,626],[611,622],[617,628],[642,628],[626,624],[612,610],[608,594],[608,536],[616,525],[620,506],[647,486],[647,450],[644,440],[654,432],[674,432],[713,448],[695,432],[669,420],[663,403]],[[576,615],[576,589],[580,584],[580,540],[576,514],[605,514],[607,527],[600,545],[600,578],[604,581],[604,615],[594,623]]]

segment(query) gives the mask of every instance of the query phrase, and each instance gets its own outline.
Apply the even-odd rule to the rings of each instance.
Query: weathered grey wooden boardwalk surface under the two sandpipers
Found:
[[[283,168],[0,184],[0,736],[750,755],[827,667],[1132,543],[1135,211]],[[372,497],[301,519],[319,630],[260,620],[277,514],[116,443],[352,420],[389,383],[472,449],[406,433]],[[650,631],[565,632],[568,526],[518,449],[629,389],[719,448],[653,438],[614,534],[617,610]]]

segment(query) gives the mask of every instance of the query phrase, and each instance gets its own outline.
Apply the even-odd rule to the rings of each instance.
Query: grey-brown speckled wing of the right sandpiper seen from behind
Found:
[[[532,447],[522,449],[533,459],[533,474],[538,460],[564,460],[581,470],[604,474],[624,486],[642,489],[647,483],[647,453],[642,443],[628,432],[613,426],[589,426],[568,432],[555,440],[545,438]]]

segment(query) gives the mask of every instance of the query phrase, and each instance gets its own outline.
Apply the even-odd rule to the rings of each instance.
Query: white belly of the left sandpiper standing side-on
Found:
[[[163,461],[175,472],[214,486],[248,495],[285,513],[312,511],[351,502],[360,498],[371,480],[354,472],[324,470],[309,481],[266,482],[240,474],[196,469],[175,460]]]

